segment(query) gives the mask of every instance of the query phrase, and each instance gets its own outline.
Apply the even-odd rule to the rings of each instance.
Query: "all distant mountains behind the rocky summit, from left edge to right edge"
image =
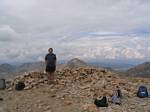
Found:
[[[109,70],[112,70],[111,68],[106,67],[103,64],[87,64],[78,58],[69,60],[64,64],[57,64],[57,69],[63,69],[63,68],[73,69],[77,67],[96,67],[96,68],[102,68],[102,69],[107,68]],[[13,77],[14,75],[19,75],[24,72],[44,71],[44,70],[45,70],[44,62],[23,63],[17,66],[5,63],[5,64],[0,65],[0,78]],[[150,62],[140,64],[138,66],[135,66],[126,70],[125,72],[123,71],[119,73],[128,74],[130,76],[150,78]]]

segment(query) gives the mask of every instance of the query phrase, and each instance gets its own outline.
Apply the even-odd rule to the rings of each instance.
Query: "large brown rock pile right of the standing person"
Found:
[[[58,88],[61,88],[60,95],[63,91],[63,97],[95,98],[103,94],[112,96],[116,86],[120,86],[123,94],[128,97],[134,96],[136,92],[136,85],[107,70],[80,68],[58,71],[57,83]]]

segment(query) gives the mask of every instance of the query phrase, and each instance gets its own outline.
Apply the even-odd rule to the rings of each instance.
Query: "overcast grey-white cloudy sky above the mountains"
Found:
[[[150,60],[150,0],[1,0],[0,63]]]

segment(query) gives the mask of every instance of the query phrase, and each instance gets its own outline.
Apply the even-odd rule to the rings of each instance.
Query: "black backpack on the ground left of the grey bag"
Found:
[[[107,97],[103,96],[101,99],[95,99],[94,104],[97,107],[108,107]]]

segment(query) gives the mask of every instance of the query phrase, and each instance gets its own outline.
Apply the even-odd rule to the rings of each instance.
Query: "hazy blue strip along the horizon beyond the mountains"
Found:
[[[73,58],[74,59],[74,58]],[[65,64],[70,60],[58,60],[57,64]],[[106,67],[106,68],[111,68],[113,70],[128,70],[130,68],[133,68],[139,64],[143,64],[144,61],[136,61],[136,60],[92,60],[92,61],[86,61],[86,60],[81,60],[84,61],[85,63],[92,65],[92,66],[97,66],[97,67]],[[22,66],[25,64],[36,64],[39,62],[43,62],[43,61],[26,61],[26,62],[16,62],[16,63],[0,63],[0,65],[2,64],[9,64],[12,66]]]

